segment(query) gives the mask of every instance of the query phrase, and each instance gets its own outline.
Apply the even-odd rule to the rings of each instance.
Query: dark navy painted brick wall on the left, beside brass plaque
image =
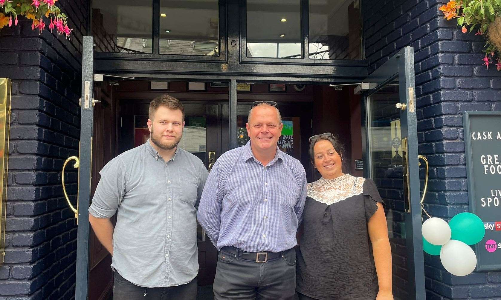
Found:
[[[31,23],[0,31],[0,76],[13,81],[5,264],[0,299],[69,299],[75,293],[76,223],[63,196],[64,160],[78,155],[86,0],[57,2],[71,40]],[[75,203],[77,172],[67,173]]]

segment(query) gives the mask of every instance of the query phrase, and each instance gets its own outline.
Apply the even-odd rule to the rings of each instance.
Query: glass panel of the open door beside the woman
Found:
[[[398,77],[367,97],[371,178],[385,201],[395,299],[409,299]]]

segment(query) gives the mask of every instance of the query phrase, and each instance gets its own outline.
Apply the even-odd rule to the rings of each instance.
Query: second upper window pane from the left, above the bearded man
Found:
[[[218,0],[161,0],[160,53],[219,55]]]

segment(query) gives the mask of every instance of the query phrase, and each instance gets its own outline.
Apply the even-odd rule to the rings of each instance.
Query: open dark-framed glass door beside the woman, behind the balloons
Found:
[[[395,299],[425,299],[413,47],[371,73],[364,172],[386,207]]]

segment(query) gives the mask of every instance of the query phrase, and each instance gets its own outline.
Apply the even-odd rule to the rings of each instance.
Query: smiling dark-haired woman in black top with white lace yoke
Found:
[[[310,138],[322,178],[308,183],[296,290],[303,299],[393,299],[391,249],[383,200],[371,179],[343,172],[332,133]]]

